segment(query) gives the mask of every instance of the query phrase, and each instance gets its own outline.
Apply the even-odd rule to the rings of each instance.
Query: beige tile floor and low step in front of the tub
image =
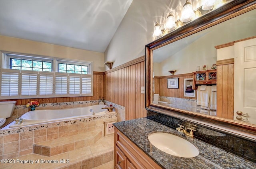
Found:
[[[0,169],[113,169],[114,168],[114,135],[102,137],[93,145],[68,151],[51,157],[38,154],[29,154],[13,159],[15,163],[0,164]],[[36,163],[38,161],[39,163]],[[34,163],[17,163],[28,160]],[[44,163],[56,160],[58,163]],[[69,163],[60,163],[60,160],[69,160]],[[63,162],[63,161],[62,161]]]

